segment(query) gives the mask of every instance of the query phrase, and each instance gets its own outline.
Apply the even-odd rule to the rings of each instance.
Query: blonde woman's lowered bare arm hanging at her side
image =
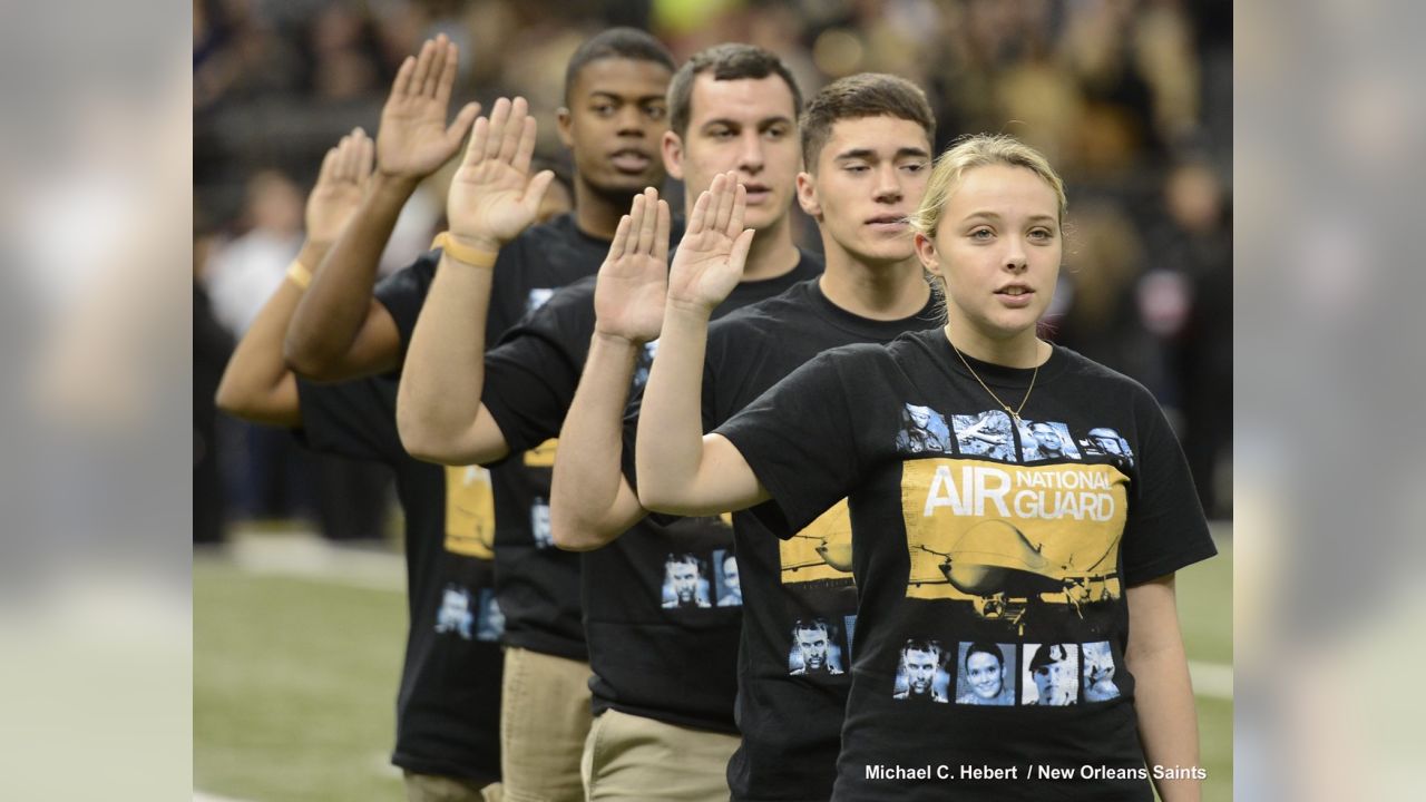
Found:
[[[1178,628],[1174,575],[1129,588],[1129,645],[1124,662],[1134,675],[1139,741],[1149,766],[1198,766],[1198,712],[1188,656]],[[1196,779],[1155,779],[1164,802],[1198,802]]]

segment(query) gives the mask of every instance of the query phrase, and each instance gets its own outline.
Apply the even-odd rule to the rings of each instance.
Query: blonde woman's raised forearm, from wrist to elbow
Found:
[[[703,462],[703,360],[709,315],[669,304],[639,414],[635,448],[639,498],[649,509],[680,512],[697,501]]]

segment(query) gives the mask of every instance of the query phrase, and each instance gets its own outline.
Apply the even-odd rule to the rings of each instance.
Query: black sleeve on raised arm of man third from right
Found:
[[[593,294],[560,290],[485,355],[481,402],[512,454],[559,437],[593,337]]]

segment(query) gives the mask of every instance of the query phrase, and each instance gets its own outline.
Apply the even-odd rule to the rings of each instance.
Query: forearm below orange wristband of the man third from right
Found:
[[[492,270],[441,257],[396,394],[401,442],[418,460],[462,464],[483,415],[485,324]],[[483,461],[483,460],[479,460]]]

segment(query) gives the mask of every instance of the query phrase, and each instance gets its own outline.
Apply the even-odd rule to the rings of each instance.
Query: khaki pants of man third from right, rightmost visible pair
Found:
[[[727,802],[737,745],[736,735],[605,711],[585,742],[585,793],[589,802]]]

